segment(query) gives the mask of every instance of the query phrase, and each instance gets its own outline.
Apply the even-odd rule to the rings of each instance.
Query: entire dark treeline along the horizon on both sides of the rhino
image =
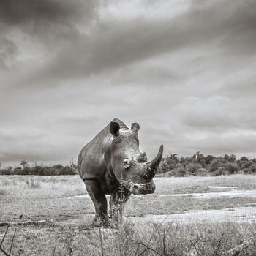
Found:
[[[78,167],[74,162],[70,165],[37,165],[29,167],[28,162],[21,161],[21,167],[4,167],[0,165],[0,175],[75,175]],[[177,154],[168,154],[162,158],[158,174],[165,176],[219,176],[236,173],[255,174],[256,158],[248,159],[241,157],[237,159],[234,154],[225,154],[224,157],[204,156],[197,152],[192,157],[178,157]]]

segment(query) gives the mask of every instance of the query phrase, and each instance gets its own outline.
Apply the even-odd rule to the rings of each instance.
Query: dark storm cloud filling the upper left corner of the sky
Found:
[[[97,7],[98,2],[90,0],[1,0],[0,68],[11,66],[10,59],[18,55],[20,38],[55,51],[53,48],[61,41],[68,42],[79,34],[79,23],[86,27],[94,20]],[[18,33],[21,34],[15,40]]]

